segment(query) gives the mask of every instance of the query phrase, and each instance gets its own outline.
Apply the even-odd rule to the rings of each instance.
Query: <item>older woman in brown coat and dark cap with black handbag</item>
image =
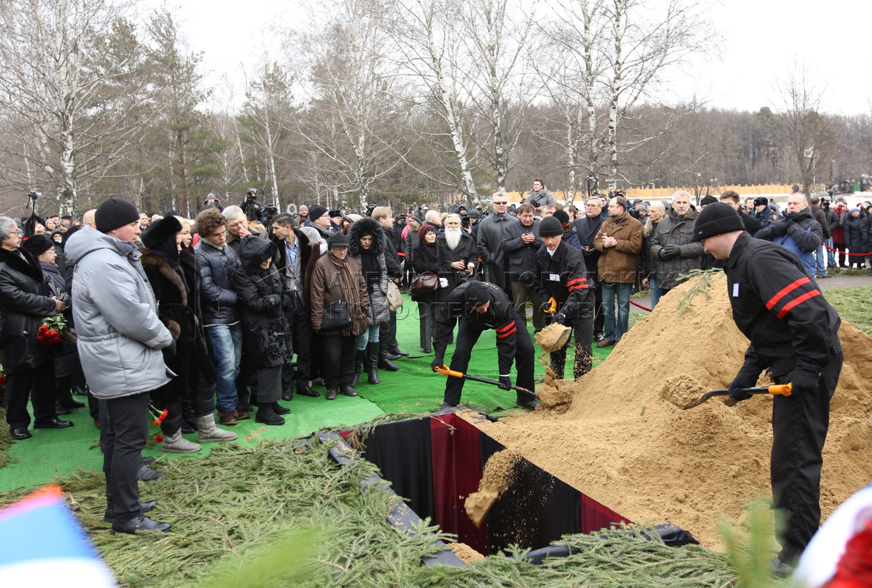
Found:
[[[358,395],[354,382],[354,357],[358,336],[367,328],[370,299],[366,282],[355,260],[348,257],[348,237],[333,233],[327,240],[327,255],[315,263],[309,283],[312,330],[321,339],[322,369],[327,400],[336,400],[341,389],[346,396]],[[351,324],[323,328],[324,312],[333,302],[344,300],[349,308]]]

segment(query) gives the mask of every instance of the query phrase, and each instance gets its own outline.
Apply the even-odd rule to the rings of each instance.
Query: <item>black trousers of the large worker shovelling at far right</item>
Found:
[[[813,394],[776,395],[772,409],[772,477],[774,507],[787,514],[787,527],[779,539],[779,559],[799,558],[821,524],[821,466],[823,443],[829,428],[829,401],[841,374],[841,344],[830,348]],[[788,382],[787,375],[773,377]]]

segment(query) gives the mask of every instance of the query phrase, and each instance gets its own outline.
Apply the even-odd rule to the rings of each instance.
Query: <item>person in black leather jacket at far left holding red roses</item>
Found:
[[[54,354],[37,341],[45,317],[63,312],[39,262],[22,251],[14,220],[0,216],[0,365],[6,373],[6,422],[13,439],[31,436],[27,401],[33,403],[34,428],[64,429],[54,404]]]

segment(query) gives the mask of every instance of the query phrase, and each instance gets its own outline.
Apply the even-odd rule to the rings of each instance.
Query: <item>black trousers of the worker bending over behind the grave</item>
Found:
[[[514,327],[517,333],[514,335],[514,368],[518,377],[514,381],[515,386],[533,390],[535,383],[533,371],[535,368],[535,348],[530,334],[527,332],[527,324],[521,320],[517,313],[514,314]],[[454,347],[454,355],[451,358],[450,368],[464,374],[469,368],[469,358],[473,354],[473,347],[484,331],[473,327],[470,321],[460,320],[460,328],[457,329],[457,345]],[[460,404],[460,394],[463,392],[463,378],[448,376],[445,383],[445,402],[452,406]],[[517,395],[518,402],[528,402],[527,396]]]

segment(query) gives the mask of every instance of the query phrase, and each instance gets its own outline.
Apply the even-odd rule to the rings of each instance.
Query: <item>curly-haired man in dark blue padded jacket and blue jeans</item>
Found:
[[[222,425],[235,425],[250,417],[237,411],[236,377],[242,360],[242,326],[236,306],[233,276],[240,269],[239,258],[227,244],[227,220],[217,208],[207,208],[194,221],[200,241],[194,255],[200,262],[203,328],[209,354],[215,362],[215,404]]]

